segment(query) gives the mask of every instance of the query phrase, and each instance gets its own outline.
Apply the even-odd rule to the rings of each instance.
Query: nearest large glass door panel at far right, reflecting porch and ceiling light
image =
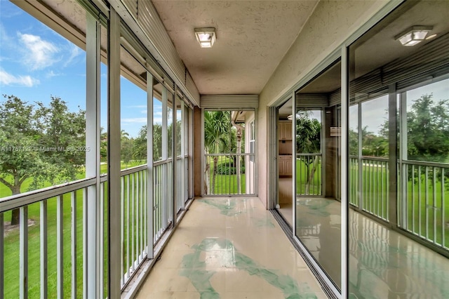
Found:
[[[349,46],[349,298],[448,298],[448,10],[403,1]]]

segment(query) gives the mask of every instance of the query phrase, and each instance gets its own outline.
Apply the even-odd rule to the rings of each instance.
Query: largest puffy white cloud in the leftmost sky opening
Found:
[[[18,36],[22,44],[27,48],[23,63],[30,67],[30,69],[44,69],[58,62],[60,58],[55,55],[60,49],[52,44],[50,41],[44,41],[41,36],[33,34],[21,34]]]

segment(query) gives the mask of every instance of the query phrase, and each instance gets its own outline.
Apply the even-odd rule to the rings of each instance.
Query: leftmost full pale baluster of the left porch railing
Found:
[[[20,207],[20,298],[28,298],[28,206]]]

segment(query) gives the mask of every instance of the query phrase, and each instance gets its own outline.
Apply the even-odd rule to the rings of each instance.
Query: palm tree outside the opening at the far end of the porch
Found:
[[[206,154],[218,154],[224,152],[229,147],[229,126],[230,117],[228,111],[207,111],[204,112],[204,151]],[[213,157],[213,176],[212,176],[212,190],[215,188],[215,176],[217,175],[218,157]],[[205,192],[208,194],[208,172],[210,171],[210,164],[206,161],[205,169]]]

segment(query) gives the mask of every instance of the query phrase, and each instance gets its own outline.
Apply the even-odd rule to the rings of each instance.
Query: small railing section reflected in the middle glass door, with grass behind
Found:
[[[322,190],[321,154],[296,154],[296,195],[319,196]]]

